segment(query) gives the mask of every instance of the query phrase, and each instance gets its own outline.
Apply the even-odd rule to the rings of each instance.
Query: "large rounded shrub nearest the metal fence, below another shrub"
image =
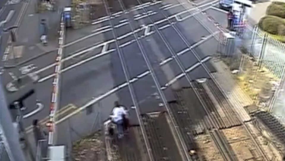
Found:
[[[278,34],[278,28],[282,30],[280,25],[285,26],[284,19],[276,16],[265,16],[259,20],[258,26],[260,29],[270,33],[270,34]]]

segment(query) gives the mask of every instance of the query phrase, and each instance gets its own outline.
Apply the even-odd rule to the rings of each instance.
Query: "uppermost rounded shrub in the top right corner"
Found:
[[[285,3],[284,2],[272,2],[267,7],[266,14],[285,18]]]

